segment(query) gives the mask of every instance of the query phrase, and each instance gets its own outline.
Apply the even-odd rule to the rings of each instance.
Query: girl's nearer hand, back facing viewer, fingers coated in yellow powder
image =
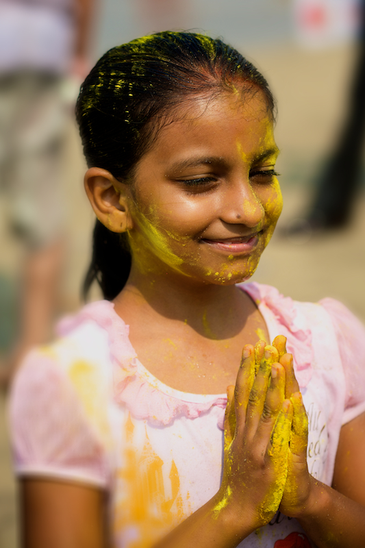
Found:
[[[214,511],[231,508],[251,530],[277,512],[288,474],[292,403],[285,399],[278,359],[275,347],[246,345],[236,388],[228,388],[223,480]]]

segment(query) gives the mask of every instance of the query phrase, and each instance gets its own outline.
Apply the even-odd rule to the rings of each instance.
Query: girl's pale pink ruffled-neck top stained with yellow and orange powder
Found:
[[[284,298],[242,284],[270,340],[287,337],[309,418],[310,473],[331,484],[341,425],[365,411],[365,329],[342,304]],[[183,393],[138,361],[129,327],[109,301],[59,325],[12,388],[14,466],[21,476],[76,480],[110,491],[114,547],[144,548],[218,490],[225,394]],[[277,514],[240,546],[311,547],[295,519]]]

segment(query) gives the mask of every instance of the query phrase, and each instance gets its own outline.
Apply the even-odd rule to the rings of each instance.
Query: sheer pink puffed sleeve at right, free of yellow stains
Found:
[[[342,425],[365,411],[365,327],[350,310],[336,299],[323,299],[333,323],[346,381]]]

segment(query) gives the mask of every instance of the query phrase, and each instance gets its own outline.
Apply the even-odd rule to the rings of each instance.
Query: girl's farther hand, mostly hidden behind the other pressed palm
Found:
[[[288,451],[288,477],[281,499],[280,512],[290,517],[299,516],[310,499],[313,477],[307,469],[308,420],[294,375],[292,355],[286,353],[286,338],[278,336],[273,346],[279,353],[279,362],[286,372],[285,397],[293,408],[292,431]]]

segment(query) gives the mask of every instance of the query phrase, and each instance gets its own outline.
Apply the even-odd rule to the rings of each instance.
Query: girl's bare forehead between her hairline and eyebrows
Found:
[[[168,155],[184,156],[194,149],[223,155],[232,147],[242,155],[276,147],[273,116],[262,92],[190,100],[158,130],[146,155],[166,162]]]

